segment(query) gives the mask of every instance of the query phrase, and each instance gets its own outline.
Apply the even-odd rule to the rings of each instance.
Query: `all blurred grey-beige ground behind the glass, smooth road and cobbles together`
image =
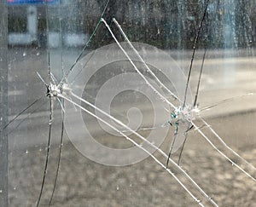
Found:
[[[61,77],[61,54],[59,52],[51,51],[52,72],[57,78]],[[73,63],[78,53],[77,50],[69,50],[63,54],[65,57],[63,59],[64,70],[67,70]],[[172,51],[172,56],[177,60],[180,68],[187,73],[189,55],[186,55],[184,60],[178,60],[178,55],[175,57],[175,53]],[[224,99],[255,92],[256,72],[254,67],[256,62],[252,56],[223,59],[222,55],[216,55],[215,52],[209,52],[207,56],[201,80],[200,107],[211,106]],[[192,92],[195,92],[201,66],[201,53],[197,56],[194,66],[195,71],[192,74],[190,86]],[[37,106],[33,106],[29,112],[17,118],[17,121],[9,126],[10,206],[34,206],[43,175],[45,147],[48,138],[49,105],[48,98],[45,97],[44,83],[39,80],[36,72],[39,72],[47,81],[47,54],[44,50],[23,48],[9,50],[9,118],[13,118],[17,112],[38,97],[44,96]],[[91,83],[89,91],[94,91],[96,89],[93,88],[94,86],[96,84]],[[212,128],[224,137],[224,141],[240,152],[254,166],[256,165],[254,159],[256,155],[255,97],[255,95],[240,97],[207,112],[202,112],[202,116],[207,118],[207,122],[212,125]],[[122,100],[125,100],[125,103],[120,104]],[[132,104],[134,104],[134,100],[129,100],[127,97],[125,99],[125,95],[119,96],[116,104],[113,103],[113,114],[123,121],[127,121],[125,119],[126,111]],[[151,113],[152,108],[148,106],[148,103],[140,102],[140,99],[136,102],[136,106],[142,109],[143,124],[147,127],[151,124],[152,116],[154,116]],[[33,110],[36,111],[33,112]],[[31,112],[33,113],[30,114]],[[28,115],[30,117],[20,124],[20,121]],[[127,141],[121,141],[120,138],[104,133],[94,118],[87,117],[85,119],[96,140],[103,145],[119,148],[129,147]],[[164,119],[162,121],[165,122]],[[160,120],[159,124],[162,124],[162,121]],[[73,130],[79,132],[76,123],[73,124]],[[173,130],[170,129],[166,141],[161,146],[165,152],[170,146]],[[207,129],[204,130],[207,135],[212,137]],[[147,132],[142,133],[147,135]],[[51,154],[42,206],[47,205],[53,187],[60,134],[61,109],[55,102]],[[156,156],[160,158],[160,155]],[[230,156],[234,158],[232,155]],[[243,163],[236,158],[235,160],[243,166]],[[162,161],[165,163],[165,160]],[[252,168],[244,167],[255,175]],[[183,156],[183,168],[220,206],[253,206],[256,202],[255,182],[221,158],[195,130],[189,132],[189,141]],[[176,172],[175,169],[173,170]],[[184,180],[182,175],[176,173]],[[188,182],[185,183],[191,187]],[[191,189],[195,193],[195,189],[193,187]],[[198,197],[204,199],[201,195]],[[197,206],[189,198],[189,195],[177,185],[177,182],[152,159],[148,158],[139,164],[119,168],[96,164],[90,159],[84,158],[73,147],[65,134],[61,170],[53,206],[143,205]]]

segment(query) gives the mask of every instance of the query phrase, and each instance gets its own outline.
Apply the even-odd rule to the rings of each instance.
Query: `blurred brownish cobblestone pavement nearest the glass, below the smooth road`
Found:
[[[240,114],[209,120],[212,127],[231,147],[256,165],[256,139],[254,127],[246,124],[255,120],[256,113]],[[226,123],[226,124],[224,124]],[[236,126],[236,128],[234,127]],[[60,128],[55,126],[55,129]],[[241,128],[246,128],[246,133]],[[229,130],[227,130],[229,129]],[[231,130],[233,129],[233,130]],[[170,133],[173,133],[170,132]],[[55,130],[54,138],[59,139],[60,131]],[[35,206],[44,172],[45,141],[37,147],[22,152],[13,150],[9,158],[9,206]],[[102,144],[122,147],[127,143],[105,135]],[[170,140],[166,139],[161,148],[168,150]],[[48,206],[55,178],[58,147],[53,145],[49,157],[45,189],[41,206]],[[155,153],[160,158],[160,155]],[[175,154],[173,158],[176,158]],[[237,158],[230,156],[237,161]],[[160,160],[165,163],[162,158]],[[239,161],[237,161],[240,164]],[[219,206],[253,206],[256,203],[256,184],[237,170],[227,160],[209,147],[195,131],[189,135],[182,159],[183,169],[219,204]],[[173,172],[187,185],[188,181],[177,170]],[[252,175],[255,171],[247,169]],[[211,206],[189,188],[206,206]],[[61,169],[55,189],[52,206],[197,206],[171,175],[167,174],[152,158],[125,167],[111,167],[96,164],[84,158],[65,137]]]

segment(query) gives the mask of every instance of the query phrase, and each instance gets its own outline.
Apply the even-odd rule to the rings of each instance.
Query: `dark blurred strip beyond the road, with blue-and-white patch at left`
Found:
[[[18,1],[8,3],[9,45],[35,44],[42,47],[83,45],[94,30],[104,2]],[[47,3],[48,6],[45,5]],[[110,1],[107,20],[115,17],[132,41],[149,43],[161,49],[191,49],[207,1]],[[253,47],[255,42],[254,1],[209,1],[201,32],[200,47]],[[45,13],[48,7],[48,14]],[[46,37],[46,18],[49,33]],[[60,18],[63,24],[60,27]],[[65,22],[65,24],[64,24]],[[61,33],[62,32],[62,33]],[[62,38],[63,41],[60,41]],[[94,47],[111,41],[97,32]]]

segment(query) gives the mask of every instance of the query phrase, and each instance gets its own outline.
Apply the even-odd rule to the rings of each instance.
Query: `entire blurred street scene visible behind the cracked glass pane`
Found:
[[[57,81],[60,81],[81,53],[82,57],[88,57],[95,49],[114,43],[106,26],[100,24],[86,49],[83,49],[96,28],[106,2],[1,1],[1,206],[37,204],[49,138],[49,98],[46,97],[46,87],[36,72],[49,83],[50,66],[51,72]],[[124,38],[113,24],[112,18],[119,21],[131,42],[146,43],[170,55],[170,68],[175,62],[178,70],[187,78],[195,37],[206,7],[189,88],[194,97],[203,56],[207,51],[201,78],[199,107],[212,106],[225,99],[236,98],[201,112],[201,116],[206,118],[207,123],[230,147],[255,166],[255,1],[110,0],[103,17],[120,42],[123,42]],[[151,50],[146,53],[153,54]],[[155,61],[161,61],[159,57],[152,56],[153,62],[154,58]],[[79,63],[87,64],[84,60]],[[124,73],[131,72],[131,66],[128,66],[127,62],[119,64],[108,64],[101,68],[97,76],[92,77],[90,83],[84,86],[84,97],[95,103],[98,89],[108,81],[109,74],[114,77],[119,74],[119,68]],[[79,67],[84,68],[78,64],[76,68]],[[145,70],[143,67],[140,69]],[[166,79],[161,80],[164,82]],[[167,82],[164,83],[168,85]],[[139,84],[145,85],[143,82]],[[185,81],[180,84],[184,86]],[[253,95],[248,95],[249,93]],[[38,99],[40,101],[37,101]],[[9,120],[31,106],[33,101],[37,101],[36,104],[23,112],[8,128],[4,128]],[[154,114],[154,107],[150,104],[147,98],[136,93],[131,93],[130,96],[124,93],[112,101],[111,112],[128,123],[132,119],[127,118],[127,110],[137,107],[143,114],[142,125],[152,127],[154,116],[160,115]],[[179,103],[176,104],[178,106]],[[57,101],[53,109],[49,166],[39,206],[49,205],[58,164],[62,116],[61,106]],[[104,131],[96,119],[89,117],[84,120],[85,124],[90,125],[96,141],[102,145],[113,148],[131,147],[125,139]],[[163,118],[158,124],[165,122],[166,119]],[[73,130],[79,132],[76,124],[74,123]],[[206,135],[214,139],[207,127],[203,129]],[[140,133],[147,136],[149,132]],[[166,140],[160,146],[165,152],[169,150],[173,134],[174,129],[170,128]],[[218,141],[216,145],[223,147]],[[253,167],[241,162],[236,156],[232,157],[225,147],[221,149],[255,175]],[[166,162],[159,154],[155,156],[163,163]],[[189,134],[182,166],[220,206],[255,204],[255,182],[221,157],[195,130]],[[203,204],[211,206],[178,170],[173,166],[171,170]],[[60,172],[51,205],[198,206],[153,159],[147,158],[125,167],[97,164],[85,158],[73,146],[65,130]]]

